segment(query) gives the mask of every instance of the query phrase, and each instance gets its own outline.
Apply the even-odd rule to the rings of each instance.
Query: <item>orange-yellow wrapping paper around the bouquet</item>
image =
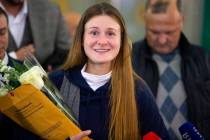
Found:
[[[22,85],[0,97],[0,110],[16,123],[49,140],[65,140],[81,130],[40,90]],[[83,140],[90,140],[88,137]]]

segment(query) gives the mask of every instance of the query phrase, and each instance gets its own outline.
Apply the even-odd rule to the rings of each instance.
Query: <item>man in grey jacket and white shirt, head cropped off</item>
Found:
[[[70,47],[70,35],[60,9],[49,0],[1,0],[9,16],[9,55],[23,61],[35,54],[45,67],[63,63]]]

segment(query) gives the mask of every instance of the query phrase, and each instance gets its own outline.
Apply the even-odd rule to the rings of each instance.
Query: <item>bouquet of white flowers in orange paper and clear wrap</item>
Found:
[[[14,67],[0,61],[0,111],[43,139],[66,139],[81,131],[33,55],[24,65],[14,62]]]

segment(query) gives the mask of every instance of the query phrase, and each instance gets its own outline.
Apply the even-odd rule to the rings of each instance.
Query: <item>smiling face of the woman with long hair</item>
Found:
[[[120,25],[107,15],[91,18],[85,24],[83,46],[88,63],[111,65],[121,46]]]

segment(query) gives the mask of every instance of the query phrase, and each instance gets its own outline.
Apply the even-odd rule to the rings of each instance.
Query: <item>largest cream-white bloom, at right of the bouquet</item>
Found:
[[[42,80],[44,75],[46,75],[46,73],[39,66],[33,66],[31,69],[24,72],[18,80],[21,84],[32,84],[40,90],[44,86],[44,81]]]

